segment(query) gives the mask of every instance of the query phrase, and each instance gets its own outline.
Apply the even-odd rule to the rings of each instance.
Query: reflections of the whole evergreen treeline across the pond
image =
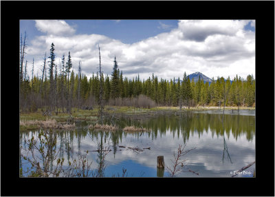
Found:
[[[157,138],[159,136],[165,136],[166,132],[172,132],[173,137],[179,138],[180,134],[183,137],[184,143],[188,141],[190,135],[198,134],[199,137],[203,132],[211,132],[212,137],[216,134],[225,138],[225,135],[229,138],[232,135],[236,140],[239,136],[245,135],[248,141],[252,141],[255,136],[255,118],[254,116],[240,116],[225,114],[224,125],[221,121],[223,114],[196,114],[193,112],[183,112],[180,116],[175,115],[162,115],[156,118],[133,120],[131,118],[121,118],[117,121],[120,128],[126,127],[127,125],[134,125],[146,129],[151,129],[148,132],[149,138]],[[108,123],[108,121],[105,121]],[[224,129],[223,129],[224,126]],[[35,135],[36,132],[20,132],[20,138],[28,138]],[[100,131],[90,131],[87,129],[77,129],[71,131],[56,131],[54,132],[60,140],[61,152],[60,156],[67,154],[67,159],[71,157],[74,152],[73,141],[76,139],[78,144],[78,151],[80,152],[81,138],[85,138],[87,135],[91,137],[92,141],[100,140]],[[115,154],[117,145],[122,142],[122,138],[127,135],[135,136],[140,138],[140,133],[128,134],[123,132],[121,129],[111,132],[104,132],[104,143],[107,143],[107,139],[111,141],[113,146],[113,154]]]

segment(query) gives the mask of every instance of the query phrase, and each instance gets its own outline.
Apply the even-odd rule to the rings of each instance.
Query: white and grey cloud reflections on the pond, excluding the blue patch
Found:
[[[171,159],[173,159],[173,152],[177,151],[179,144],[184,144],[181,134],[179,134],[179,138],[177,138],[177,136],[173,137],[173,132],[170,132],[169,130],[166,132],[165,136],[162,136],[161,138],[157,137],[157,139],[154,139],[153,141],[151,138],[148,138],[148,134],[144,134],[140,136],[140,141],[142,141],[142,143],[135,140],[135,135],[128,134],[125,138],[122,138],[122,142],[119,145],[125,147],[139,147],[141,149],[144,147],[151,147],[151,149],[144,149],[143,152],[137,154],[131,149],[117,147],[115,158],[113,156],[113,146],[112,143],[110,143],[112,151],[109,152],[106,157],[107,164],[109,166],[120,165],[124,160],[133,160],[135,163],[139,163],[140,165],[156,167],[157,156],[163,155],[165,164],[171,166],[173,165],[171,161]],[[200,176],[210,176],[211,174],[213,176],[213,173],[216,174],[217,172],[223,172],[221,174],[217,173],[217,176],[227,176],[225,172],[238,170],[236,167],[241,168],[255,158],[254,141],[248,142],[245,136],[240,136],[238,141],[236,141],[233,136],[229,139],[225,138],[225,141],[228,145],[228,152],[232,158],[233,165],[228,160],[226,152],[224,161],[222,162],[223,136],[218,137],[217,134],[214,134],[212,137],[212,133],[209,130],[208,133],[203,132],[203,134],[200,134],[200,137],[199,134],[194,133],[192,138],[189,138],[186,150],[193,147],[196,147],[196,149],[186,154],[183,159],[187,159],[186,164],[190,166],[191,169],[199,169]],[[107,144],[104,144],[103,146],[107,146]],[[83,152],[87,149],[96,150],[97,142],[91,141],[91,138],[86,136],[81,139],[80,148]],[[77,139],[74,139],[74,150],[75,152],[78,150]],[[89,152],[88,154],[89,160],[94,160],[92,165],[94,169],[97,167],[97,156],[98,152]],[[207,171],[210,171],[211,173]]]

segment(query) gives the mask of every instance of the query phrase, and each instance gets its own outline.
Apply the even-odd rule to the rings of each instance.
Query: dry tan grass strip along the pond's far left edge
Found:
[[[32,125],[37,125],[42,128],[47,129],[74,129],[75,124],[62,124],[57,123],[55,119],[47,119],[46,121],[32,120],[32,121],[20,121],[21,126],[30,127]]]

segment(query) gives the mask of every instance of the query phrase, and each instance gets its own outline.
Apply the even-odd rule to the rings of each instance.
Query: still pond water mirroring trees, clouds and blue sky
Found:
[[[109,123],[109,120],[104,122]],[[85,129],[84,126],[89,122],[83,122],[74,131],[52,132],[52,138],[58,138],[58,147],[61,149],[59,156],[64,157],[69,163],[74,152],[80,154],[87,150],[101,150],[89,152],[89,160],[94,160],[92,167],[98,170],[98,174],[113,176],[121,173],[122,166],[127,172],[131,172],[133,163],[138,163],[137,172],[133,169],[131,175],[140,176],[141,172],[144,172],[144,177],[152,174],[166,176],[165,172],[157,172],[157,156],[164,155],[166,164],[170,165],[173,152],[183,143],[187,143],[190,148],[197,147],[192,154],[186,155],[186,159],[193,170],[199,170],[201,177],[227,177],[230,176],[229,170],[240,169],[245,163],[255,159],[255,116],[186,112],[140,120],[121,118],[116,123],[120,128],[127,125],[142,125],[151,132],[128,133],[122,129],[102,132]],[[37,131],[20,132],[21,144],[24,143],[24,139],[32,136],[37,137]],[[120,145],[151,149],[137,154]],[[106,156],[102,150],[107,146],[111,152]],[[106,163],[102,159],[104,156]],[[192,177],[192,174],[183,176]]]

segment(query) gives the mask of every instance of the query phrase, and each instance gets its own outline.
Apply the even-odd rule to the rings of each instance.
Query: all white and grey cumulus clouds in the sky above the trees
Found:
[[[129,79],[137,74],[147,79],[152,73],[159,79],[177,79],[182,78],[184,72],[232,79],[236,74],[255,75],[255,34],[244,30],[248,23],[250,21],[179,21],[178,27],[170,32],[125,44],[100,34],[74,34],[74,28],[65,21],[37,21],[36,28],[46,35],[32,40],[27,53],[41,65],[45,52],[48,53],[54,43],[57,63],[70,51],[75,71],[82,61],[83,72],[89,77],[98,71],[100,44],[104,74],[111,74],[116,56],[119,69]]]

